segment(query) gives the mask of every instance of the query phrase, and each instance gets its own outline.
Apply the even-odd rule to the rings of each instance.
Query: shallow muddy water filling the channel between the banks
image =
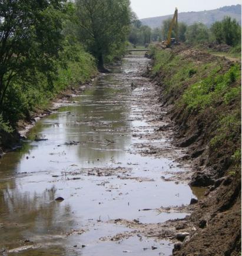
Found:
[[[21,149],[0,159],[4,254],[171,254],[170,241],[137,235],[112,221],[184,218],[156,209],[189,204],[193,196],[186,183],[161,179],[185,170],[174,161],[167,137],[154,136],[162,122],[156,96],[148,99],[152,84],[141,77],[147,64],[141,55],[126,57],[40,120]],[[35,136],[47,140],[35,142]],[[157,147],[164,154],[153,155]],[[65,200],[55,201],[59,196]],[[117,234],[121,238],[113,239]]]

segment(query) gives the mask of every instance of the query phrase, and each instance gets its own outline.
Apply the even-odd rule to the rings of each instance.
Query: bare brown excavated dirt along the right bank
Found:
[[[191,61],[194,67],[197,64],[216,61],[221,67],[220,74],[233,66],[233,63],[225,58],[195,49],[177,47],[171,52],[179,55],[181,59]],[[169,72],[167,66],[161,67],[160,73],[155,76],[150,72],[150,77],[161,86],[161,91],[167,89],[164,78],[170,76]],[[194,75],[191,83],[195,82],[197,81]],[[180,85],[182,89],[176,94],[161,93],[160,102],[162,106],[170,109],[168,117],[173,120],[175,145],[186,148],[188,153],[183,158],[193,162],[190,185],[206,187],[207,192],[187,219],[187,223],[190,226],[193,224],[196,231],[183,243],[176,244],[173,254],[241,255],[241,172],[231,172],[234,167],[231,152],[234,147],[240,145],[240,134],[234,139],[234,143],[221,145],[216,150],[211,150],[209,146],[216,131],[217,116],[240,109],[240,102],[234,101],[226,105],[218,101],[216,108],[205,109],[203,113],[189,113],[184,107],[175,105],[188,86],[189,82],[184,81]],[[231,84],[231,87],[233,86],[234,84]]]

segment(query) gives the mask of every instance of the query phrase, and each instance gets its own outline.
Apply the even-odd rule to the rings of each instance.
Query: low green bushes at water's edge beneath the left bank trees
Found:
[[[45,74],[31,68],[26,69],[25,77],[12,81],[2,106],[5,122],[14,127],[19,119],[29,119],[31,112],[45,109],[62,90],[84,83],[96,71],[94,57],[79,44],[67,44],[54,65],[57,73],[53,74],[51,84]]]

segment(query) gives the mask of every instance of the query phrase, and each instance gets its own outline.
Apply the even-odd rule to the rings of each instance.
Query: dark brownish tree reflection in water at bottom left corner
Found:
[[[21,185],[12,189],[10,184],[2,185],[0,191],[0,247],[11,249],[32,242],[44,245],[60,234],[65,238],[74,222],[70,205],[54,201],[55,185],[42,193],[30,193],[22,191]]]

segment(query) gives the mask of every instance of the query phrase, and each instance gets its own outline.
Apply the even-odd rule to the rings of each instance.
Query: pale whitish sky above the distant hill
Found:
[[[150,18],[178,12],[204,11],[225,5],[241,4],[240,0],[131,0],[132,10],[138,18]]]

